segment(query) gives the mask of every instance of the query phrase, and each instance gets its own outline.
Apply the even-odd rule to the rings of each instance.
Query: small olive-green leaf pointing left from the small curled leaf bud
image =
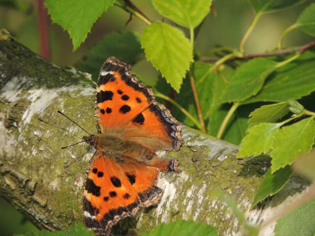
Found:
[[[248,126],[266,122],[273,123],[289,113],[289,103],[276,103],[262,106],[249,114]]]

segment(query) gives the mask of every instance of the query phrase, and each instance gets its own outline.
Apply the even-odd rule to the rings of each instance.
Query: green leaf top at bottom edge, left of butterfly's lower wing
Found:
[[[41,230],[39,232],[27,232],[25,236],[94,236],[93,232],[88,230],[83,226],[83,224],[79,223],[75,226],[61,231],[48,231]],[[19,234],[16,236],[23,236],[23,234]]]

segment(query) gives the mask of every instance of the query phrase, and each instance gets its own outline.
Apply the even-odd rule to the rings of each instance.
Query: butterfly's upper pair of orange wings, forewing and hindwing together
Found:
[[[119,133],[151,150],[178,150],[181,124],[131,73],[130,66],[109,57],[97,87],[96,122],[100,133]]]

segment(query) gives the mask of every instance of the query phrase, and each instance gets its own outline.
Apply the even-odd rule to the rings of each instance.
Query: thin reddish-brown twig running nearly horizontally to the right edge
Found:
[[[290,49],[285,49],[285,50],[277,50],[275,52],[265,52],[265,53],[244,53],[242,57],[237,57],[234,56],[232,58],[229,58],[228,60],[226,60],[225,62],[230,62],[230,61],[234,61],[234,60],[239,60],[239,59],[251,59],[251,58],[255,58],[255,57],[269,57],[269,56],[281,56],[281,55],[288,55],[288,54],[292,54],[295,52],[299,52],[299,53],[304,53],[305,51],[311,49],[315,47],[315,41],[312,41],[308,44],[305,44],[303,46],[300,47],[294,47],[294,48],[290,48]],[[201,57],[200,60],[203,62],[216,62],[218,60],[220,60],[221,58],[207,58],[207,57]]]

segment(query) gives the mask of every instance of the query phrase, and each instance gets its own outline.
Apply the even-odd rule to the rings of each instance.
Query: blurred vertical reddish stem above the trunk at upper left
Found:
[[[49,59],[49,39],[48,39],[48,20],[47,9],[44,6],[44,0],[37,0],[38,5],[38,27],[40,33],[40,54]]]

